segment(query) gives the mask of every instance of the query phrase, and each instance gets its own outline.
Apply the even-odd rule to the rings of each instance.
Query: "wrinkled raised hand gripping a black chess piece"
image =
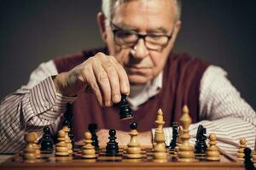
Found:
[[[85,89],[96,94],[100,105],[119,103],[121,94],[130,93],[125,69],[110,55],[98,53],[73,70],[54,79],[55,89],[66,96],[75,96]]]

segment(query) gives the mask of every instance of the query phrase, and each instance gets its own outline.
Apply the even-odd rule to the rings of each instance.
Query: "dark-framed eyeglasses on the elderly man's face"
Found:
[[[161,51],[166,47],[172,34],[168,35],[155,35],[155,34],[139,34],[136,31],[125,31],[110,22],[113,31],[114,41],[121,48],[132,48],[140,38],[143,38],[145,45],[150,50]]]

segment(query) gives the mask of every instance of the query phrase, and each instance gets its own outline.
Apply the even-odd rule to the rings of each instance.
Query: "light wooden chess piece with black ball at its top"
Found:
[[[131,132],[129,133],[131,136],[131,140],[127,145],[127,157],[131,159],[138,159],[142,158],[141,155],[141,146],[137,142],[137,123],[131,122],[130,124]]]

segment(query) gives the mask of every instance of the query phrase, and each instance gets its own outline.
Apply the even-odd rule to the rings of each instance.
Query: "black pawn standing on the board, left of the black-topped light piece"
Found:
[[[108,137],[109,142],[106,147],[106,156],[115,156],[115,155],[118,155],[119,153],[119,145],[115,141],[116,139],[115,134],[116,134],[116,131],[114,129],[109,130],[109,137]]]

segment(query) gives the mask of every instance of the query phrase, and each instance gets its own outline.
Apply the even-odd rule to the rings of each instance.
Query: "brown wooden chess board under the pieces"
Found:
[[[97,151],[96,159],[83,159],[82,149],[77,146],[73,150],[73,156],[58,157],[55,153],[42,153],[41,159],[26,162],[22,159],[22,153],[9,158],[1,164],[0,169],[244,169],[242,162],[236,158],[222,153],[220,161],[206,161],[204,156],[195,156],[195,162],[180,162],[175,154],[167,151],[166,162],[154,161],[151,148],[143,147],[142,159],[128,159],[124,147],[119,147],[119,154],[106,156],[106,150]]]

